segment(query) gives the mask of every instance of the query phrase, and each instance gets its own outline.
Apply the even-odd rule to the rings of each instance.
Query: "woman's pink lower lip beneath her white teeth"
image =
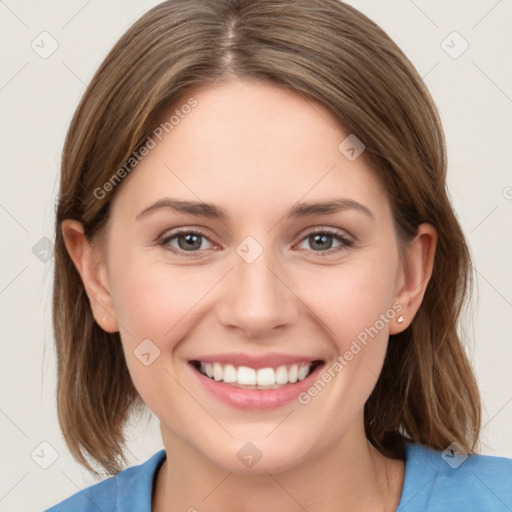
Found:
[[[304,380],[286,384],[276,389],[242,389],[210,379],[191,365],[201,384],[220,401],[239,409],[276,409],[296,400],[300,393],[306,391],[322,369],[318,365]]]

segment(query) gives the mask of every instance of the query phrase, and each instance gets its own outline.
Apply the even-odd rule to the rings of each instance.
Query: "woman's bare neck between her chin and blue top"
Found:
[[[219,467],[182,439],[162,434],[167,459],[156,479],[154,512],[394,512],[400,501],[404,462],[383,456],[364,435],[347,433],[287,470],[248,474]]]

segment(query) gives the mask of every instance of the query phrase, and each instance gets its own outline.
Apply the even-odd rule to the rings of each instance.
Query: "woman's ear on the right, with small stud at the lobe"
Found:
[[[432,276],[436,245],[437,231],[434,226],[420,224],[416,236],[405,250],[404,261],[397,280],[395,300],[402,305],[399,316],[403,316],[404,321],[393,322],[390,325],[390,334],[397,334],[405,330],[420,308]]]

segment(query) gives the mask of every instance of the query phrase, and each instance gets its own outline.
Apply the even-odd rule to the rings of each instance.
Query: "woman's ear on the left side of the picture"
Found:
[[[82,223],[77,220],[64,220],[61,229],[66,250],[84,283],[94,319],[107,332],[119,331],[100,247],[87,239]]]

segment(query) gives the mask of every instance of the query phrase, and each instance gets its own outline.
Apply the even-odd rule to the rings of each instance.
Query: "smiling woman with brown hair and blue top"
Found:
[[[50,509],[507,510],[457,332],[444,136],[336,0],[164,2],[93,78],[56,222],[59,420],[115,475]],[[147,406],[165,450],[121,471]]]

